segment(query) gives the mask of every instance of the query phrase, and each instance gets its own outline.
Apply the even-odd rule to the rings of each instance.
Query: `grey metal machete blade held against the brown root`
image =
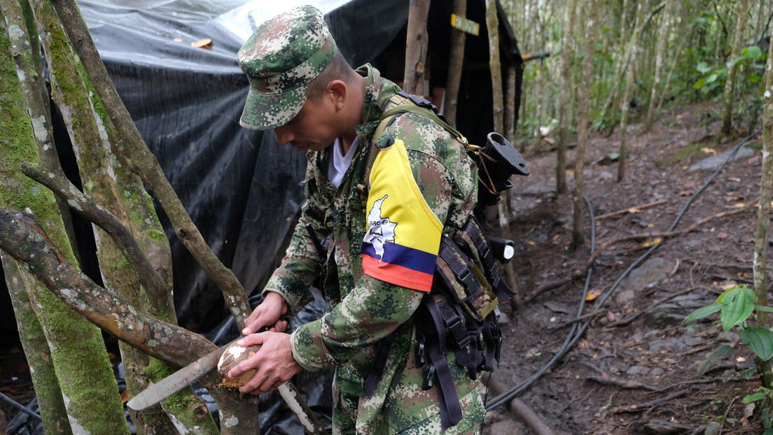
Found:
[[[193,381],[214,369],[217,362],[220,361],[220,355],[223,355],[226,348],[238,342],[240,339],[241,337],[221,348],[209,352],[155,384],[151,384],[151,386],[141,391],[137,396],[132,397],[126,404],[131,410],[141,411],[172,396],[172,394],[186,388],[186,386],[189,386]]]

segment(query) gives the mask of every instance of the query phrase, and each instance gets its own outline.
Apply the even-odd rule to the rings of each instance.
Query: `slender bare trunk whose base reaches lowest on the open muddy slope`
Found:
[[[572,195],[572,249],[585,243],[585,203],[583,201],[583,182],[585,169],[585,148],[588,136],[588,106],[593,74],[593,58],[596,51],[596,28],[598,26],[598,2],[587,1],[587,24],[585,25],[585,49],[582,61],[582,82],[577,87],[577,152],[574,163],[574,194]]]

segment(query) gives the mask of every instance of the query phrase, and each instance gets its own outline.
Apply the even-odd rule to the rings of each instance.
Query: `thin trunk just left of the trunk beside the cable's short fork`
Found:
[[[577,0],[566,2],[564,39],[561,47],[561,86],[558,102],[558,151],[556,155],[556,191],[567,192],[567,148],[569,146],[569,104],[571,99],[570,63],[572,34],[574,33],[574,9]]]

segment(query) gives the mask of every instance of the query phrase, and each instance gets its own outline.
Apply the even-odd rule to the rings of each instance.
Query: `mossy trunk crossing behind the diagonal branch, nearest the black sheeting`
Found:
[[[126,301],[135,304],[143,312],[152,313],[163,321],[176,323],[171,293],[169,243],[155,216],[152,200],[136,175],[115,164],[117,159],[110,152],[111,145],[108,140],[115,137],[111,120],[104,115],[104,107],[94,89],[89,89],[90,81],[73,56],[53,6],[48,2],[36,2],[35,12],[37,21],[43,25],[46,35],[60,35],[65,40],[65,43],[57,44],[44,38],[43,46],[57,84],[52,87],[53,97],[63,113],[67,114],[65,124],[70,141],[76,144],[73,149],[76,151],[84,192],[117,216],[138,240],[138,248],[154,253],[153,257],[157,260],[152,270],[155,274],[150,275],[158,275],[158,279],[141,287],[137,272],[128,263],[121,249],[107,233],[94,226],[94,239],[97,242],[97,255],[104,283],[108,289],[123,295]],[[121,192],[121,195],[117,192]],[[172,372],[171,368],[148,370],[147,355],[135,352],[127,345],[121,344],[121,355],[130,396],[136,395],[149,385],[145,372],[161,375]],[[182,394],[195,397],[190,389]],[[176,411],[172,420],[166,418],[160,406],[133,414],[138,433],[172,433],[172,421],[182,433],[217,432],[214,420],[209,412],[206,412],[206,405],[202,401],[196,403],[195,399],[190,399],[177,400],[175,403],[189,403],[192,408],[185,410],[175,406],[170,409]]]

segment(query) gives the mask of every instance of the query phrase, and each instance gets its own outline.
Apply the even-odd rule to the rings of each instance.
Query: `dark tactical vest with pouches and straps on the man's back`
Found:
[[[497,152],[487,153],[488,146],[482,148],[469,144],[462,134],[437,114],[437,107],[429,101],[404,92],[397,93],[386,104],[373,141],[397,116],[404,113],[432,119],[451,134],[452,140],[463,145],[478,165],[478,206],[461,229],[441,237],[432,290],[424,294],[414,316],[418,336],[417,360],[424,364],[422,388],[426,390],[437,386],[444,431],[461,420],[461,406],[445,355],[449,351],[454,352],[456,363],[467,370],[470,379],[477,379],[478,372],[491,371],[494,360],[499,362],[502,345],[497,304],[515,294],[496,268],[494,250],[489,243],[493,238],[485,236],[482,211],[485,206],[499,201],[499,194],[504,189],[512,187],[507,181],[509,175],[528,175],[529,172],[523,158],[509,143],[506,147],[512,148],[515,155],[503,146]],[[495,135],[504,141],[499,134]],[[491,141],[492,134],[489,134]],[[373,166],[377,153],[372,154],[369,156],[369,167]],[[514,165],[516,170],[500,174],[498,171],[503,160],[507,165]],[[365,213],[368,176],[366,174],[363,182],[357,185]],[[365,384],[367,397],[373,395],[380,382],[394,338],[394,334],[389,335],[378,345],[373,370]]]

